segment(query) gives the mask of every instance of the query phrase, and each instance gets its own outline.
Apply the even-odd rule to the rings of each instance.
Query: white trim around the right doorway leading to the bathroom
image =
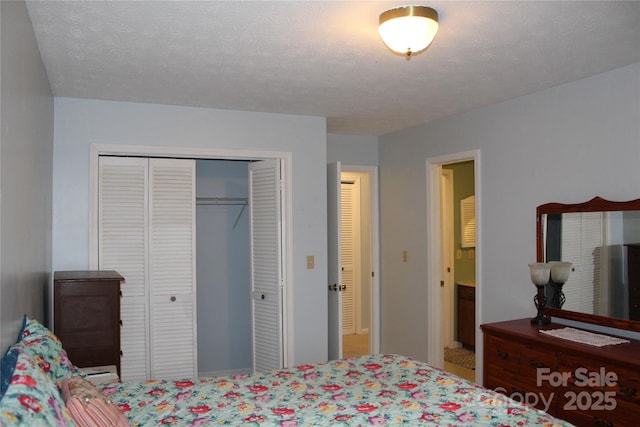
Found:
[[[440,221],[440,171],[442,165],[473,161],[474,165],[474,191],[476,196],[476,325],[480,325],[482,308],[482,195],[480,185],[480,150],[463,151],[444,156],[429,157],[426,159],[427,179],[427,298],[428,298],[428,333],[427,333],[427,362],[436,367],[444,366],[444,350],[442,343],[442,331],[440,326],[442,310],[440,307],[440,275],[442,265],[442,231]],[[476,351],[476,381],[482,378],[482,354],[480,341],[480,328],[476,328],[476,342],[479,343]]]

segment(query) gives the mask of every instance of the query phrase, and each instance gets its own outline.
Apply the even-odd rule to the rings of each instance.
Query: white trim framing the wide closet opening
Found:
[[[282,238],[282,346],[283,365],[295,360],[293,325],[293,153],[283,151],[227,150],[218,148],[162,147],[146,145],[91,144],[89,157],[89,268],[98,267],[98,159],[100,156],[172,157],[206,160],[267,160],[280,159],[284,169],[283,238]]]

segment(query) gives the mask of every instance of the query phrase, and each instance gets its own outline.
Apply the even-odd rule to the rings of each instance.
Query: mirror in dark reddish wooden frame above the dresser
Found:
[[[538,262],[572,263],[564,302],[546,314],[640,332],[640,199],[540,205],[536,244]]]

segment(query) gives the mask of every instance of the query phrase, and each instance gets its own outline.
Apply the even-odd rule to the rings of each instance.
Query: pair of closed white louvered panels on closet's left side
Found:
[[[195,162],[99,158],[98,268],[124,278],[122,378],[193,377]]]

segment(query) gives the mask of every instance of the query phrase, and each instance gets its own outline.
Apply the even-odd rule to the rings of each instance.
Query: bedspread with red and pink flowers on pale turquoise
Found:
[[[132,426],[564,426],[457,376],[386,354],[267,374],[102,388]]]

